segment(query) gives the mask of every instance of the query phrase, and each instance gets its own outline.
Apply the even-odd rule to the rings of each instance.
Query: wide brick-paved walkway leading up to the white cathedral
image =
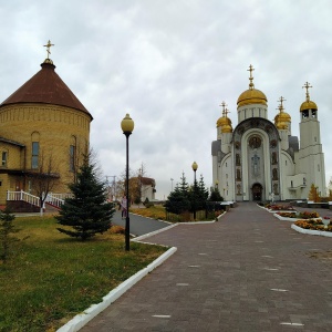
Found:
[[[332,239],[255,204],[149,238],[178,251],[81,331],[332,331]]]

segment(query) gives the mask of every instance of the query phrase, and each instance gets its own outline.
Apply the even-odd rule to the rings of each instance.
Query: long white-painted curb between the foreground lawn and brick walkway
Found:
[[[112,290],[107,295],[103,298],[103,301],[101,303],[92,304],[89,309],[84,310],[83,313],[75,315],[71,321],[69,321],[65,325],[60,328],[56,332],[76,332],[80,329],[82,329],[89,321],[91,321],[98,313],[101,313],[108,305],[111,305],[116,299],[118,299],[123,293],[131,289],[135,283],[137,283],[146,274],[152,272],[156,267],[162,264],[167,258],[169,258],[174,252],[176,252],[176,247],[172,247],[170,249],[168,249],[146,268],[138,271],[137,273],[128,278],[126,281],[117,286],[114,290]]]

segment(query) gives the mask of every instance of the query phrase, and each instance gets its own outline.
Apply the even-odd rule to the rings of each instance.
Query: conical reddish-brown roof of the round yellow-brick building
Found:
[[[0,106],[18,103],[44,103],[75,108],[91,114],[55,73],[55,65],[44,62],[41,70],[11,94]],[[91,116],[92,118],[92,116]]]

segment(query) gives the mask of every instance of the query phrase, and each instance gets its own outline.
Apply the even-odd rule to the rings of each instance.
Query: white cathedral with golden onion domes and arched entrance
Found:
[[[211,143],[212,178],[225,200],[308,199],[314,184],[325,194],[325,167],[318,107],[310,100],[300,106],[300,143],[291,134],[291,116],[280,97],[274,123],[268,120],[268,100],[255,89],[249,66],[249,89],[237,101],[238,124],[232,128],[222,102],[217,141]]]

